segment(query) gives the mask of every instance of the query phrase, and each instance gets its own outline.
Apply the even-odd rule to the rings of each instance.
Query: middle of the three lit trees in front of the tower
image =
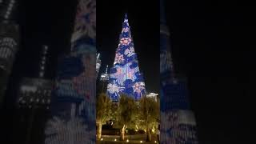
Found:
[[[126,94],[121,94],[118,102],[118,113],[117,122],[120,126],[121,140],[125,140],[126,128],[129,126],[135,126],[135,114],[136,114],[137,104],[134,98],[128,97]]]

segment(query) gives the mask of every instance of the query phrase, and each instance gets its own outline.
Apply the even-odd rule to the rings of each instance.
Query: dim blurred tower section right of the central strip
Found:
[[[194,113],[190,110],[185,78],[174,75],[170,55],[170,33],[160,0],[160,143],[198,144]]]

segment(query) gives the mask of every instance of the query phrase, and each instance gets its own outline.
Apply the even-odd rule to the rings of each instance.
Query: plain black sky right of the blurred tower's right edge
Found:
[[[202,144],[251,143],[255,7],[166,1],[176,72],[189,78]]]

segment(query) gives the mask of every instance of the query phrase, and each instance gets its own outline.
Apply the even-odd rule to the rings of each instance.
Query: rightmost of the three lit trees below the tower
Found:
[[[151,141],[151,129],[158,127],[160,104],[154,98],[143,96],[138,104],[137,124],[140,129],[146,130],[146,142]]]

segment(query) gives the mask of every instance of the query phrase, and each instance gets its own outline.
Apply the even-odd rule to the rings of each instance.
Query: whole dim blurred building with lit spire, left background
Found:
[[[50,114],[51,94],[54,82],[44,78],[48,46],[42,47],[38,78],[23,78],[18,86],[17,130],[20,143],[43,143],[43,128]]]

